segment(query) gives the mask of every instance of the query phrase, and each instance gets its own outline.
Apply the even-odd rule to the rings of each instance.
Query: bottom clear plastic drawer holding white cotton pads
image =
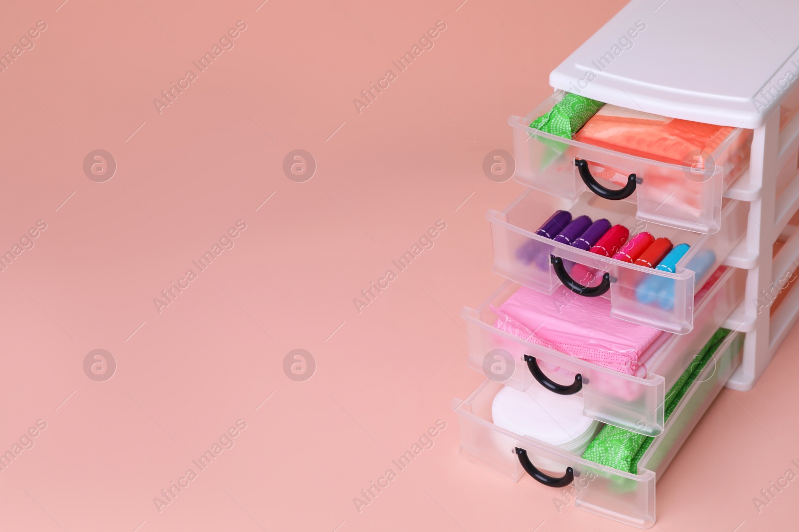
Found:
[[[619,471],[582,459],[569,451],[537,439],[514,434],[493,424],[491,404],[503,384],[486,380],[467,400],[453,400],[458,415],[460,452],[467,459],[498,475],[518,482],[525,475],[526,451],[530,463],[557,464],[558,471],[541,467],[545,475],[559,477],[558,488],[574,483],[575,505],[583,510],[640,528],[655,522],[655,483],[666,471],[702,415],[741,361],[742,333],[730,333],[671,414],[638,461],[638,474]],[[564,471],[566,472],[564,475]]]

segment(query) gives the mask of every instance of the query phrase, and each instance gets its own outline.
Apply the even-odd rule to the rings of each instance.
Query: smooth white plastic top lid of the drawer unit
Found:
[[[632,0],[550,74],[609,104],[757,128],[799,85],[797,0]]]

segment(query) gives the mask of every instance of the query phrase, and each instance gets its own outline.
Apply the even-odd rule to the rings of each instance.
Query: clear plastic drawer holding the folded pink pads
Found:
[[[464,307],[461,312],[471,339],[468,365],[491,380],[522,391],[530,386],[552,389],[550,383],[578,388],[562,392],[582,396],[586,416],[629,431],[658,435],[664,428],[666,391],[743,300],[745,286],[746,271],[727,268],[697,301],[694,330],[689,334],[663,333],[665,340],[646,361],[646,376],[641,377],[603,368],[497,329],[497,316],[491,307],[498,309],[519,290],[515,282],[505,282],[477,309]]]

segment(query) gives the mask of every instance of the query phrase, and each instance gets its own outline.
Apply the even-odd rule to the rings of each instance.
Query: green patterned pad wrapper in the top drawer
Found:
[[[601,101],[566,93],[566,96],[555,104],[547,114],[533,120],[530,127],[545,133],[551,133],[551,135],[570,139],[591,116],[594,116],[594,113],[602,105],[604,104]],[[563,144],[556,140],[545,139],[540,136],[535,138],[549,148],[542,157],[541,170],[549,166],[553,160],[556,160],[568,148],[568,144]]]

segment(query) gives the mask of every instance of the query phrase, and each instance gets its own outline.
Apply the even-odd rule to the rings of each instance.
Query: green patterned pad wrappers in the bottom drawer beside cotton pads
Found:
[[[694,362],[682,372],[674,386],[666,393],[664,416],[669,419],[690,385],[702,372],[710,358],[730,333],[729,329],[718,329],[702,348]],[[607,467],[638,474],[638,460],[649,448],[654,437],[630,432],[624,428],[605,425],[582,453],[582,458]]]

